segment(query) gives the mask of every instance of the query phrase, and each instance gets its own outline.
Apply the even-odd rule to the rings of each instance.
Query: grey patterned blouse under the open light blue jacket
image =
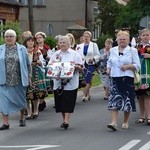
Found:
[[[21,82],[21,72],[17,47],[6,46],[6,84],[9,86],[18,85]]]

